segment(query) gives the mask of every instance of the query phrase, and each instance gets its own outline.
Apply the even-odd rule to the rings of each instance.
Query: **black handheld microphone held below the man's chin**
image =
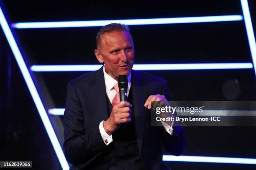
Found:
[[[127,101],[128,79],[126,75],[118,76],[118,87],[119,87],[120,101]]]

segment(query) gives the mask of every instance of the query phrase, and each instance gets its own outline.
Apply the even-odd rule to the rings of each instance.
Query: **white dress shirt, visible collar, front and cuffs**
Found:
[[[113,98],[115,97],[115,94],[116,94],[114,86],[118,83],[118,81],[116,81],[110,75],[108,75],[108,73],[105,71],[105,65],[103,67],[103,73],[104,73],[105,86],[106,86],[106,92],[107,92],[107,95],[108,95],[108,99],[110,100],[110,102],[112,102],[112,100],[113,100]],[[131,73],[130,73],[130,75],[128,75],[127,79],[128,79],[127,94],[129,95],[129,91],[130,91],[130,87],[131,87]],[[113,142],[113,138],[112,138],[112,135],[108,135],[108,133],[106,133],[106,131],[103,127],[103,122],[105,122],[105,121],[103,120],[102,122],[100,122],[100,125],[99,125],[100,135],[101,135],[104,143],[106,145],[108,145],[111,142]],[[172,135],[172,133],[173,133],[172,125],[169,126],[164,122],[162,122],[162,124],[163,124],[166,132],[169,133],[170,135]],[[172,124],[173,124],[173,122],[172,122]]]

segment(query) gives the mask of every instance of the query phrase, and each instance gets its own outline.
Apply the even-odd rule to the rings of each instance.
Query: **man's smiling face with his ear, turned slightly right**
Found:
[[[95,50],[99,62],[105,63],[105,70],[114,79],[129,75],[134,63],[134,47],[131,34],[126,31],[104,33],[100,47]]]

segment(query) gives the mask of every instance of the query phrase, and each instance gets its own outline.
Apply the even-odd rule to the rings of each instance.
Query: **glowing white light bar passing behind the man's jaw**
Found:
[[[32,65],[34,72],[57,71],[95,71],[102,65]],[[250,69],[253,65],[245,63],[200,63],[200,64],[135,64],[134,70],[210,70],[210,69]]]

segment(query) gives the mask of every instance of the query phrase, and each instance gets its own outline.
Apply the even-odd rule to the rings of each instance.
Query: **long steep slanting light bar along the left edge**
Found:
[[[33,83],[31,75],[28,72],[28,68],[26,67],[26,64],[25,64],[25,62],[23,60],[23,57],[22,57],[22,55],[20,53],[18,45],[15,42],[15,39],[14,39],[13,34],[12,34],[10,28],[9,28],[9,25],[8,25],[6,19],[5,19],[5,16],[3,14],[3,11],[1,9],[1,7],[0,7],[0,25],[3,28],[3,32],[5,33],[5,36],[6,36],[7,40],[8,40],[10,48],[13,51],[13,55],[14,55],[17,63],[18,63],[20,71],[21,71],[21,73],[22,73],[22,75],[23,75],[23,77],[24,77],[24,79],[26,81],[26,84],[28,86],[28,90],[29,90],[29,92],[30,92],[34,102],[35,102],[35,105],[36,105],[36,108],[37,108],[37,110],[39,112],[41,120],[44,123],[44,127],[46,128],[46,132],[49,135],[49,138],[50,138],[51,143],[52,143],[52,145],[54,147],[55,153],[56,153],[56,155],[57,155],[57,157],[59,159],[61,167],[64,170],[68,170],[69,169],[69,165],[67,163],[67,160],[66,160],[66,158],[64,156],[64,153],[63,153],[63,151],[61,149],[61,146],[60,146],[59,141],[58,141],[58,139],[56,137],[56,134],[54,133],[54,129],[53,129],[52,125],[51,125],[49,117],[48,117],[48,115],[46,113],[46,110],[44,109],[43,103],[42,103],[42,101],[41,101],[41,99],[39,97],[39,94],[38,94],[38,92],[36,90],[36,87],[35,87],[35,85]]]

